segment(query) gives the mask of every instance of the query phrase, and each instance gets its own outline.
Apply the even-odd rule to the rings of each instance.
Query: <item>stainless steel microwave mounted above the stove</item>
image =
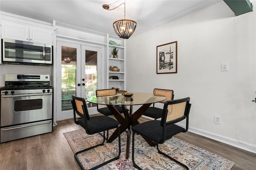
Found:
[[[10,64],[51,65],[52,45],[2,39],[2,60]]]

